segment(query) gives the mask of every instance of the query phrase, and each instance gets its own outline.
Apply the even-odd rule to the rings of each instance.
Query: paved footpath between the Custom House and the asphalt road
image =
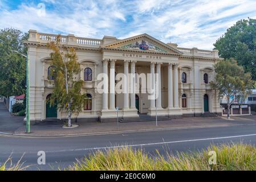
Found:
[[[225,117],[213,118],[181,118],[169,121],[156,122],[129,122],[129,123],[100,123],[100,122],[78,122],[79,125],[74,129],[63,129],[62,125],[31,125],[31,133],[26,134],[26,126],[23,125],[24,117],[14,117],[11,115],[3,103],[0,102],[0,134],[16,135],[25,137],[65,137],[80,135],[99,135],[115,134],[134,131],[157,131],[157,130],[177,130],[193,129],[201,127],[219,127],[219,126],[240,126],[256,125],[256,117],[253,115],[243,117]]]

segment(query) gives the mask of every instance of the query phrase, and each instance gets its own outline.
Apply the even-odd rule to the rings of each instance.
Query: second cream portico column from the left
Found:
[[[115,59],[110,60],[109,109],[111,110],[115,110],[115,63]]]

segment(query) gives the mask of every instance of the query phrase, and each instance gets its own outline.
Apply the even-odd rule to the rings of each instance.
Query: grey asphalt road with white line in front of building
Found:
[[[161,154],[167,151],[197,151],[210,144],[243,142],[256,144],[256,125],[147,131],[138,133],[96,135],[65,138],[14,138],[0,137],[0,162],[10,155],[17,162],[23,155],[29,169],[58,169],[67,167],[75,159],[83,158],[95,150],[129,145],[143,147],[145,152]],[[38,166],[38,151],[46,152],[46,165]]]

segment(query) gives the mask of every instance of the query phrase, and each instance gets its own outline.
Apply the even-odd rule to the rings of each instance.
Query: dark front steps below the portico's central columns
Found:
[[[168,116],[157,116],[157,121],[170,121]],[[156,116],[149,116],[147,114],[139,114],[139,117],[123,118],[119,119],[120,123],[125,122],[145,122],[145,121],[156,121]]]

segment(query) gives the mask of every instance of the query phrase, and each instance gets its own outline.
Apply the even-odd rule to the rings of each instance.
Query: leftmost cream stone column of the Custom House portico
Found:
[[[104,92],[102,94],[102,110],[108,110],[108,59],[104,59],[103,73],[104,73]]]

